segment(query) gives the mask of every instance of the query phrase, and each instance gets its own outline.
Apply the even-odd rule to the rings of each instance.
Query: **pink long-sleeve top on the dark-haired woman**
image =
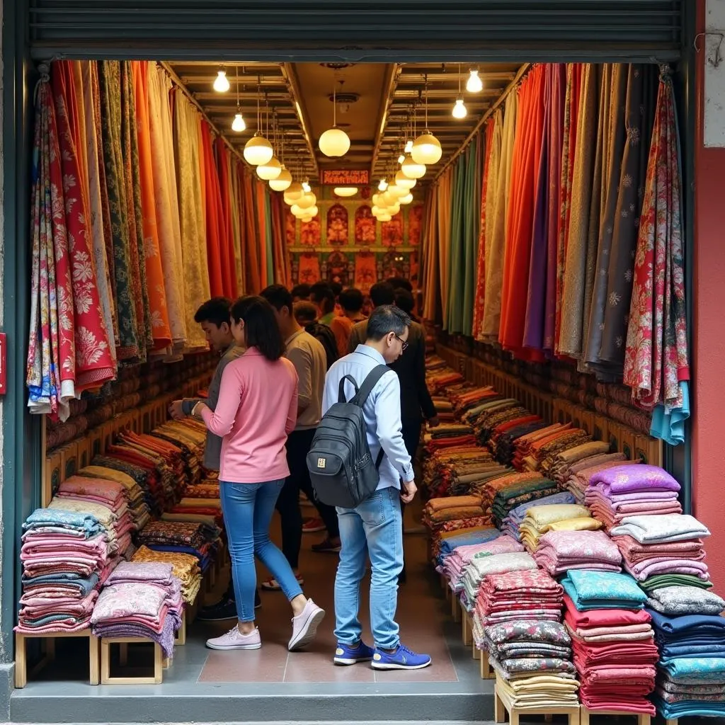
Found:
[[[222,436],[219,480],[261,484],[289,476],[285,444],[297,422],[297,371],[282,357],[271,362],[255,347],[222,375],[215,410],[202,408],[212,433]]]

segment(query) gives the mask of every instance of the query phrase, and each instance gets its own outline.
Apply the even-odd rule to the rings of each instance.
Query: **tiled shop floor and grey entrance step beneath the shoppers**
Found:
[[[218,721],[332,720],[338,712],[347,721],[371,721],[391,719],[391,708],[394,712],[404,708],[405,713],[392,719],[488,719],[492,684],[480,679],[470,648],[461,644],[460,625],[448,616],[447,602],[426,562],[426,539],[420,535],[405,537],[407,584],[400,588],[397,620],[405,645],[432,655],[433,665],[412,672],[378,673],[365,664],[333,665],[337,557],[311,552],[310,545],[321,537],[308,534],[302,542],[305,593],[327,611],[318,639],[306,650],[287,652],[289,604],[278,592],[262,592],[261,650],[208,650],[207,637],[233,623],[197,621],[189,628],[186,645],[176,648],[163,684],[91,687],[87,655],[66,650],[73,641],[65,640],[59,642],[54,666],[33,676],[25,689],[14,691],[13,721],[96,722],[99,708],[104,713],[101,721],[106,722],[209,721],[211,712]],[[260,571],[260,576],[268,573]],[[369,642],[367,591],[365,580],[361,620]],[[61,712],[65,718],[57,715]]]

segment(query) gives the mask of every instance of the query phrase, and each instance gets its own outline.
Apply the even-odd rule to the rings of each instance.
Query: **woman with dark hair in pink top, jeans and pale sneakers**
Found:
[[[277,497],[289,476],[285,444],[297,419],[297,372],[282,357],[284,342],[274,311],[262,297],[234,302],[231,331],[247,352],[224,369],[216,410],[204,403],[194,407],[207,428],[223,436],[219,488],[239,617],[237,626],[207,640],[207,647],[258,650],[262,646],[254,625],[257,555],[291,603],[288,647],[299,650],[314,639],[325,612],[302,594],[289,563],[269,537]]]

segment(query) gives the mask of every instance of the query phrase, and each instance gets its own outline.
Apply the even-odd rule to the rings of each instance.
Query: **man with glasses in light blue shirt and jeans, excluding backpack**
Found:
[[[328,371],[323,397],[323,414],[338,402],[343,378],[358,384],[379,365],[394,362],[407,347],[410,318],[390,305],[376,307],[367,323],[367,339]],[[355,394],[344,382],[347,399]],[[428,655],[413,653],[400,643],[395,621],[398,576],[403,566],[400,500],[409,503],[416,486],[410,455],[405,450],[400,422],[400,384],[390,370],[384,373],[363,404],[370,456],[378,460],[377,489],[355,508],[338,508],[341,552],[335,579],[337,648],[334,661],[352,665],[372,660],[373,668],[420,669],[431,663]],[[401,492],[401,481],[402,492]],[[373,574],[370,582],[370,622],[375,649],[365,645],[358,617],[360,581],[367,556]]]

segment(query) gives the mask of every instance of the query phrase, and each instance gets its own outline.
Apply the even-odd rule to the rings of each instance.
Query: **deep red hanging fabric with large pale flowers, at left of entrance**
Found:
[[[59,158],[65,196],[67,247],[70,252],[67,263],[72,281],[72,300],[68,299],[65,304],[62,299],[58,300],[58,322],[62,327],[72,327],[75,332],[75,394],[80,394],[83,390],[99,387],[115,378],[115,363],[96,283],[88,179],[83,175],[78,159],[78,146],[85,144],[85,140],[75,138],[73,133],[74,129],[80,128],[80,124],[70,63],[64,61],[54,64],[51,80],[57,107]]]

